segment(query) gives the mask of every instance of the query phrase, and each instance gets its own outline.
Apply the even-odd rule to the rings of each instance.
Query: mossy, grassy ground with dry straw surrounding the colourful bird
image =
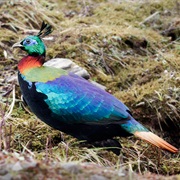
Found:
[[[70,58],[121,99],[133,116],[180,147],[180,4],[156,1],[4,1],[0,3],[1,179],[180,179],[180,153],[134,137],[120,156],[38,120],[23,103],[12,45],[42,21],[47,60]]]

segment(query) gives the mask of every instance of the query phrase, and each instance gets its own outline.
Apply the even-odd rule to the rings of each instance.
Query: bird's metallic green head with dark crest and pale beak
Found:
[[[13,48],[20,48],[28,53],[28,55],[38,56],[45,55],[46,47],[41,38],[52,32],[52,26],[42,23],[39,33],[35,36],[27,36],[20,42],[15,43]]]

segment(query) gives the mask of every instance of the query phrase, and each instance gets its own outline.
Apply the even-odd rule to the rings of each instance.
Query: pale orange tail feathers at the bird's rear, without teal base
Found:
[[[153,134],[152,132],[146,132],[146,131],[138,132],[138,131],[136,131],[134,133],[134,135],[139,137],[140,139],[143,139],[143,140],[153,144],[156,147],[161,148],[161,149],[168,150],[172,153],[178,152],[177,148],[175,148],[171,144],[167,143],[162,138],[158,137],[157,135]]]

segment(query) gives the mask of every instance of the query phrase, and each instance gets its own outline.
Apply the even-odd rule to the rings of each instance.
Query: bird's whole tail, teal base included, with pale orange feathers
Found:
[[[134,134],[140,139],[145,140],[158,148],[170,151],[172,153],[178,152],[177,148],[167,143],[165,140],[163,140],[159,136],[150,132],[143,125],[138,123],[133,117],[131,117],[131,120],[129,120],[125,124],[122,124],[121,127],[125,129],[127,132]]]

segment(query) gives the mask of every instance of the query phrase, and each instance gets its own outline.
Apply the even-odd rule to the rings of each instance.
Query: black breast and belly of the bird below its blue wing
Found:
[[[87,125],[70,124],[61,121],[61,116],[54,116],[53,112],[45,103],[47,96],[36,91],[35,83],[29,84],[18,73],[18,80],[23,97],[32,112],[49,126],[70,134],[80,140],[101,141],[114,136],[129,136],[118,124]],[[68,120],[67,120],[68,122]]]

